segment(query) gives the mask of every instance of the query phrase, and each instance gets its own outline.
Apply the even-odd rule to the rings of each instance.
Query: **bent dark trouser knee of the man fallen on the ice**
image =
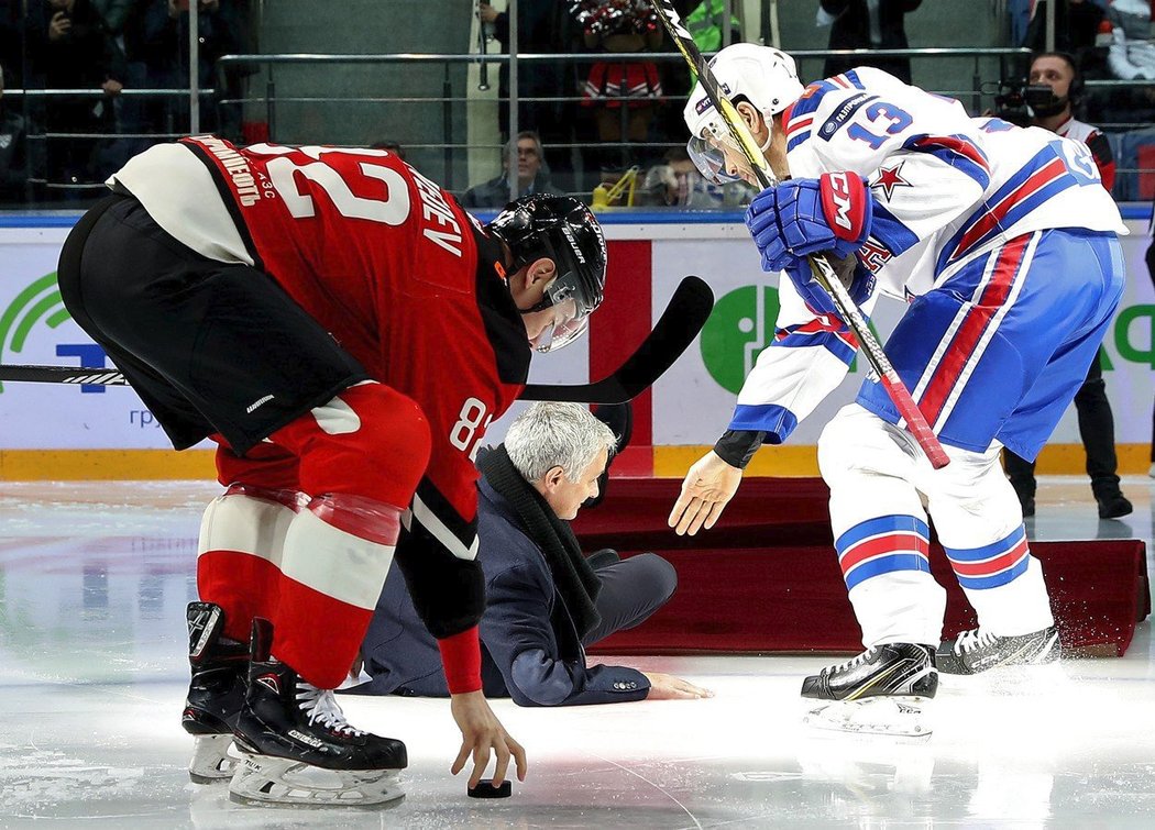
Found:
[[[678,586],[673,566],[655,553],[640,553],[604,564],[595,573],[602,582],[596,603],[602,621],[582,637],[583,645],[593,645],[614,631],[641,625],[669,601]]]

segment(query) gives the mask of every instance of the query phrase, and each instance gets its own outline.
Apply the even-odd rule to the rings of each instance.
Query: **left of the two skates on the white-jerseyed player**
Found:
[[[803,723],[819,730],[926,738],[926,703],[938,691],[931,646],[886,643],[803,681],[803,697],[826,701]]]

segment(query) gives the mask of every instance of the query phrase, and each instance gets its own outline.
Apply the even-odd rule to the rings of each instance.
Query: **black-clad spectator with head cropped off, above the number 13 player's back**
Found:
[[[904,17],[922,0],[820,0],[818,24],[830,27],[828,48],[909,48]],[[910,83],[909,58],[827,58],[826,77],[873,66]]]

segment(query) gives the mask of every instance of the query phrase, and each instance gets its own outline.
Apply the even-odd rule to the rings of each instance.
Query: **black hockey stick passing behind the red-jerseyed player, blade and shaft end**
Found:
[[[714,292],[698,277],[686,277],[670,299],[654,330],[638,350],[609,377],[594,383],[551,386],[530,383],[523,401],[575,401],[620,404],[641,395],[673,361],[681,357],[706,324],[714,308]],[[0,382],[72,383],[73,386],[128,386],[114,368],[74,366],[0,366]]]

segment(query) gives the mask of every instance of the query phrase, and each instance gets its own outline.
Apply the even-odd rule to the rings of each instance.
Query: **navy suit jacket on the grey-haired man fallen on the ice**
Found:
[[[649,681],[641,672],[586,665],[586,650],[542,551],[501,494],[485,479],[478,489],[477,560],[486,595],[480,623],[485,695],[508,696],[522,706],[644,698]],[[417,616],[396,567],[385,581],[362,656],[372,680],[355,693],[449,694],[437,641]]]

